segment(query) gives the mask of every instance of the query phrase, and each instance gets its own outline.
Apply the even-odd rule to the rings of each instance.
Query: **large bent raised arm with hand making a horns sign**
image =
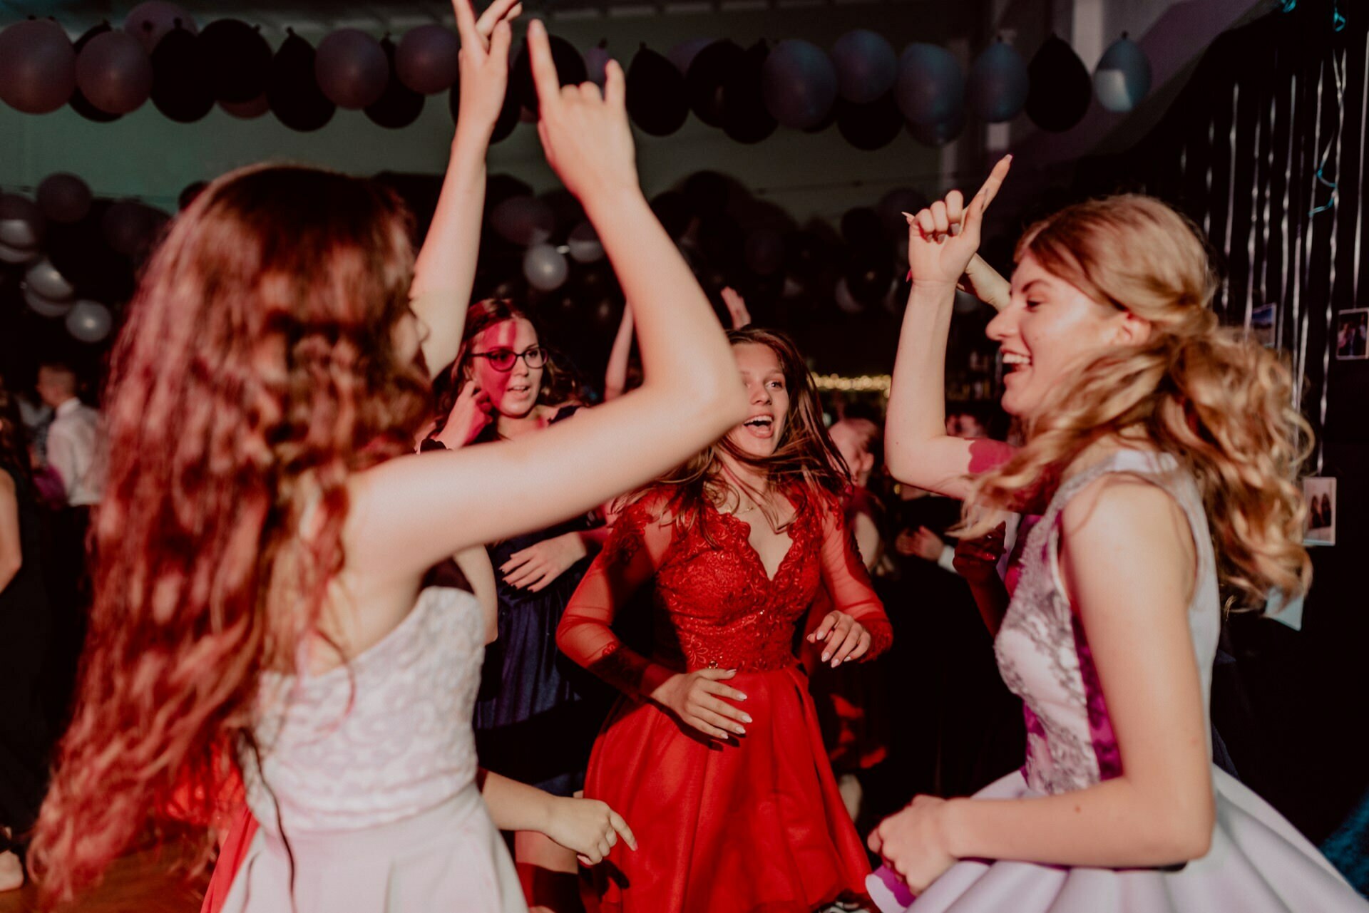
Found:
[[[538,434],[357,474],[348,563],[367,575],[405,579],[470,545],[583,513],[678,465],[746,413],[708,298],[637,186],[622,67],[609,63],[601,99],[593,83],[559,88],[539,22],[528,47],[542,145],[635,303],[645,381]]]

